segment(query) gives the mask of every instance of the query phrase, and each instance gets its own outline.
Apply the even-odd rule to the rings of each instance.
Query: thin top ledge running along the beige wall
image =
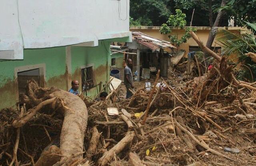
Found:
[[[185,26],[184,29],[188,28],[189,26]],[[160,30],[161,26],[130,26],[130,30]],[[210,26],[192,26],[192,28],[196,28],[197,30],[210,30]],[[224,28],[226,30],[241,30],[243,27],[219,27]],[[173,28],[174,30],[180,30],[181,28]]]

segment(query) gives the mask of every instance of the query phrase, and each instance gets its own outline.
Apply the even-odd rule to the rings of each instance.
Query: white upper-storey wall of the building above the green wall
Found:
[[[129,0],[1,0],[0,59],[23,59],[22,48],[88,41],[96,46],[98,40],[131,36],[129,3]]]

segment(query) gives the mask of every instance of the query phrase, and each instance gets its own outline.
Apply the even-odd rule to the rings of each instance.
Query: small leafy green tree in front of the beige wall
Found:
[[[161,34],[170,34],[172,32],[173,27],[181,28],[183,29],[186,26],[186,14],[182,13],[180,9],[176,9],[176,15],[170,15],[167,24],[162,24],[162,27],[160,28]],[[185,34],[178,39],[178,35],[171,35],[169,36],[170,41],[172,44],[180,46],[181,43],[186,43],[191,36],[189,35],[190,31],[196,31],[196,28],[187,28],[185,30]]]

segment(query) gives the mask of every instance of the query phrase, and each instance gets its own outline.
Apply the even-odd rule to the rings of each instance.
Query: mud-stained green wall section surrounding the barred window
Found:
[[[102,85],[105,85],[109,79],[108,66],[110,63],[109,41],[101,40],[97,47],[71,47],[71,79],[76,79],[80,82],[79,91],[82,90],[81,69],[83,67],[93,66],[96,83],[98,84],[102,81]],[[99,86],[97,87],[99,90]],[[91,97],[97,95],[96,87],[89,89],[87,95]]]

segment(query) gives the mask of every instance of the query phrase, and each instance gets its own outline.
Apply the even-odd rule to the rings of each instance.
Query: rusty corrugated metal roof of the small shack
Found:
[[[161,48],[166,47],[176,48],[169,41],[159,40],[146,34],[143,34],[142,32],[132,32],[132,40],[137,41],[142,45],[145,45],[153,51],[159,51]]]

